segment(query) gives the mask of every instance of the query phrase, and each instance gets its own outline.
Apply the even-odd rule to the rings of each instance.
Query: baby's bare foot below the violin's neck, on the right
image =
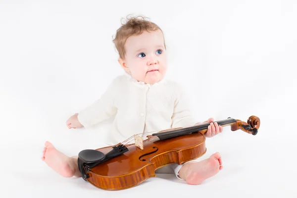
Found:
[[[202,183],[223,168],[222,159],[218,152],[212,154],[208,159],[199,162],[189,162],[184,166],[181,168],[179,176],[191,185]]]

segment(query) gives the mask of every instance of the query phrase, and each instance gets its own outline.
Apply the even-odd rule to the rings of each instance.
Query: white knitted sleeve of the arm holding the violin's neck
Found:
[[[190,109],[189,101],[186,93],[180,86],[176,86],[177,99],[175,101],[173,115],[172,115],[172,128],[187,127],[196,124]]]

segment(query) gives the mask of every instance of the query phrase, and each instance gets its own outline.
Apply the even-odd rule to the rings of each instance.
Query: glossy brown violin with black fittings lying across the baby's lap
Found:
[[[250,116],[247,122],[229,117],[217,123],[222,127],[231,126],[231,131],[242,130],[251,135],[256,135],[260,127],[256,116]],[[103,190],[135,187],[155,177],[158,168],[202,156],[206,152],[204,133],[208,125],[210,123],[200,123],[163,130],[148,135],[144,141],[136,135],[114,146],[82,150],[78,154],[82,178]],[[129,144],[133,138],[135,143]]]

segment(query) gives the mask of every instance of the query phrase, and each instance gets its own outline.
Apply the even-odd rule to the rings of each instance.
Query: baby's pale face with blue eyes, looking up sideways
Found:
[[[138,81],[154,84],[162,80],[167,71],[167,55],[161,31],[144,32],[129,37],[122,66]]]

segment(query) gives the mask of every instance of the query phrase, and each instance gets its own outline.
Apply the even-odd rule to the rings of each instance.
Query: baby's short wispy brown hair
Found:
[[[117,49],[120,55],[120,58],[125,57],[125,54],[126,54],[125,43],[129,37],[140,35],[144,31],[152,32],[152,31],[160,30],[163,33],[163,31],[159,26],[157,26],[153,22],[146,20],[147,17],[132,16],[131,18],[129,18],[128,16],[127,16],[126,23],[125,24],[122,23],[122,26],[116,31],[115,38],[113,39],[113,43],[115,44],[115,48]],[[164,40],[164,47],[166,49],[165,40]]]

